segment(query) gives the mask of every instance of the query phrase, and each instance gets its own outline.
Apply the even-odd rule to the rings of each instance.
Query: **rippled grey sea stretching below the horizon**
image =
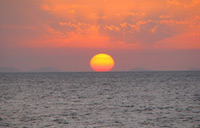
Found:
[[[0,128],[200,128],[200,72],[0,73]]]

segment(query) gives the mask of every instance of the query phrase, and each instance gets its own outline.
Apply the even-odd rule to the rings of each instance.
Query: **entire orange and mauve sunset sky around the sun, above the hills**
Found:
[[[0,0],[0,67],[200,69],[200,0]]]

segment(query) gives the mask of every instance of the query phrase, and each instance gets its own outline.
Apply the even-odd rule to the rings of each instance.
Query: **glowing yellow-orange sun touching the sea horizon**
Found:
[[[90,60],[91,68],[96,72],[108,72],[114,67],[114,59],[108,54],[97,54]]]

